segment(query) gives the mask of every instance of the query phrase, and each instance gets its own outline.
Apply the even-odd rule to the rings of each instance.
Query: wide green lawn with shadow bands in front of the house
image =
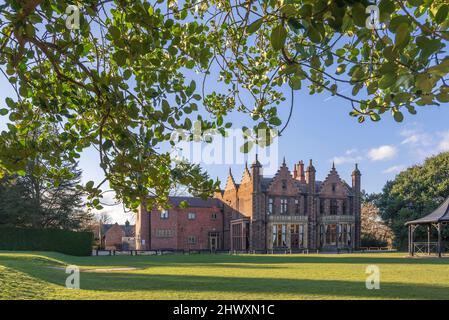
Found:
[[[449,259],[404,256],[0,252],[0,299],[449,299]],[[65,288],[69,264],[82,269],[80,290]],[[368,265],[380,268],[380,290],[365,288]],[[137,269],[98,270],[126,267]]]

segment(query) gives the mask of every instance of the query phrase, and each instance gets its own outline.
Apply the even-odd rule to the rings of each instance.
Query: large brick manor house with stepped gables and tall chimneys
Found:
[[[315,179],[310,160],[289,171],[285,160],[274,177],[264,177],[256,160],[245,166],[239,184],[229,171],[226,187],[214,198],[173,197],[169,210],[139,210],[137,249],[334,251],[360,246],[361,173],[352,185],[335,166],[324,181]],[[179,203],[187,201],[189,208]],[[151,228],[151,239],[150,230]]]

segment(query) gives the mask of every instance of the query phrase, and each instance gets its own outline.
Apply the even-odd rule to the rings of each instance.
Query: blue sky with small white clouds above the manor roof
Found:
[[[214,82],[209,88],[218,86]],[[0,78],[0,101],[5,105],[6,97],[15,97],[12,88]],[[288,96],[288,95],[287,95]],[[280,106],[280,114],[286,119],[289,103]],[[294,162],[314,160],[317,179],[324,179],[335,161],[340,176],[350,182],[355,163],[362,171],[362,186],[367,192],[379,192],[389,179],[408,166],[421,163],[426,157],[442,151],[449,151],[449,108],[421,107],[415,116],[406,115],[403,123],[396,123],[387,114],[380,122],[367,121],[359,124],[349,116],[351,106],[345,100],[329,94],[311,96],[307,89],[295,92],[295,105],[289,126],[279,138],[278,165],[285,156],[287,165]],[[237,127],[250,124],[247,116],[233,114],[229,119]],[[0,129],[4,129],[6,117],[2,117]],[[251,162],[252,160],[250,160]],[[83,181],[101,181],[102,171],[98,167],[98,154],[86,150],[81,158]],[[224,186],[228,164],[204,165],[212,177],[219,177]],[[231,165],[237,182],[243,172],[242,164]],[[112,203],[112,193],[106,202]],[[132,220],[122,206],[104,209],[118,222]]]

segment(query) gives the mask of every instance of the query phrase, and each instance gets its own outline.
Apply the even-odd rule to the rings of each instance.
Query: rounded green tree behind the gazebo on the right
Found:
[[[395,234],[396,245],[405,248],[405,222],[431,213],[448,196],[449,153],[442,153],[401,172],[374,199],[382,219]]]

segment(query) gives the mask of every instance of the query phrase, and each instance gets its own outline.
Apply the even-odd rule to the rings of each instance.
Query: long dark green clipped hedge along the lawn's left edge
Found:
[[[90,256],[93,238],[92,232],[0,227],[0,250],[56,251]]]

